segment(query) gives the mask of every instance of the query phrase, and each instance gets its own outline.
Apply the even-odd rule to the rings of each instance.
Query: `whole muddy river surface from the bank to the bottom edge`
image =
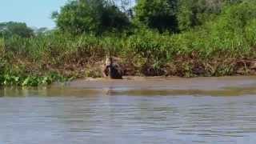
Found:
[[[0,144],[256,142],[256,77],[91,79],[0,96]]]

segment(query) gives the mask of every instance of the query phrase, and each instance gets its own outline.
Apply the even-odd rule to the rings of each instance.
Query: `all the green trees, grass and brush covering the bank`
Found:
[[[256,74],[254,0],[139,0],[133,13],[70,1],[53,14],[55,30],[25,36],[0,24],[0,85],[101,77],[106,54],[133,75]]]

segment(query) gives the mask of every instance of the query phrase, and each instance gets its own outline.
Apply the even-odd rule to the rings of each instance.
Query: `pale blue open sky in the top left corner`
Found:
[[[53,28],[50,14],[68,0],[0,0],[0,22],[26,22],[28,26]]]

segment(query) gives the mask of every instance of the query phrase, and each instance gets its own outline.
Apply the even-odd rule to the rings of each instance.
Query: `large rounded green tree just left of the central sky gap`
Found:
[[[73,0],[60,13],[54,12],[52,18],[60,30],[71,34],[122,31],[130,25],[126,14],[107,0]]]

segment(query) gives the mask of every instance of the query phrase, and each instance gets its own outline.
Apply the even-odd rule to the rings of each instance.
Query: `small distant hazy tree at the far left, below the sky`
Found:
[[[2,22],[0,23],[0,36],[10,37],[18,35],[22,38],[34,36],[34,31],[26,26],[24,22]]]

